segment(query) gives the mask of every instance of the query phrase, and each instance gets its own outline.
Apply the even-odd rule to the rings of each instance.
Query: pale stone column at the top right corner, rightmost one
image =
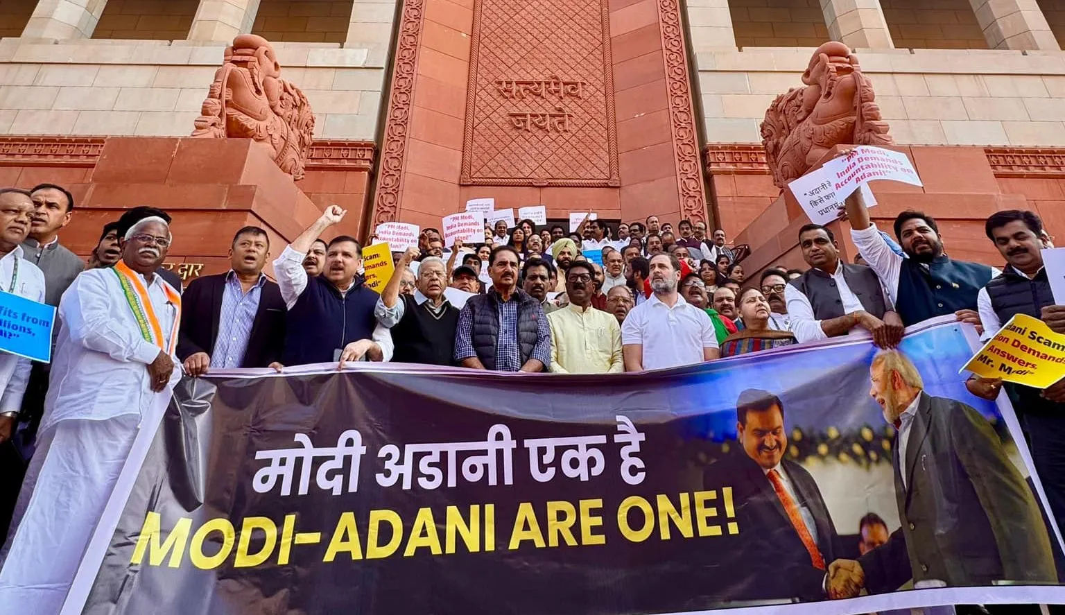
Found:
[[[969,0],[992,49],[1061,49],[1036,0]]]

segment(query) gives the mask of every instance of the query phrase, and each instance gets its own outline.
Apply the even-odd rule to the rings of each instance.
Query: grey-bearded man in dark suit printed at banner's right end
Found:
[[[1023,476],[976,409],[924,392],[898,351],[878,353],[870,394],[898,430],[892,448],[902,527],[857,562],[831,566],[833,593],[996,581],[1055,583],[1050,538]]]

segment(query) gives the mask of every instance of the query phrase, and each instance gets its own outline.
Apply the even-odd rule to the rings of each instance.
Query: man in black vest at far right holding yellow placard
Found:
[[[1018,313],[1041,318],[1044,308],[1050,311],[1062,306],[1054,306],[1043,268],[1043,221],[1037,215],[1016,209],[999,211],[987,219],[985,230],[1006,261],[1002,275],[980,289],[977,300],[983,339],[988,340]],[[966,386],[973,394],[994,400],[1002,381],[973,376]],[[1012,383],[1005,389],[1023,421],[1050,508],[1058,525],[1065,528],[1065,379],[1043,391]]]

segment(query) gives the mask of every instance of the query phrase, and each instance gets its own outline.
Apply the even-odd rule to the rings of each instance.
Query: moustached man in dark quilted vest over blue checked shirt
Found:
[[[543,372],[551,366],[551,327],[540,302],[518,288],[521,259],[512,245],[492,249],[492,290],[470,297],[459,312],[455,360],[498,372]]]

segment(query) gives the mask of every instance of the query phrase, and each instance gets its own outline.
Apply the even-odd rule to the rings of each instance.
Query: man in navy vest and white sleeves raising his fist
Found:
[[[365,287],[365,278],[359,275],[359,242],[346,234],[337,236],[326,249],[322,275],[309,277],[304,269],[314,240],[344,220],[346,213],[330,205],[274,261],[277,285],[289,308],[281,355],[285,366],[340,361],[340,369],[344,361],[392,358],[392,336],[374,317],[378,295]]]

